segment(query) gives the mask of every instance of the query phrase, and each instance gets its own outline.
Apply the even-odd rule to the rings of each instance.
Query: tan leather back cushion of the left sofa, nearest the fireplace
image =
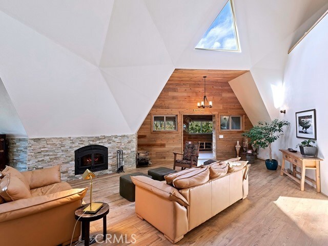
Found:
[[[22,173],[28,181],[30,188],[35,189],[43,186],[49,186],[53,183],[60,183],[60,166],[38,169]]]

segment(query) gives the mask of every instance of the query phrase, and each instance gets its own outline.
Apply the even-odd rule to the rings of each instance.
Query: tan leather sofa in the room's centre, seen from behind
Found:
[[[247,165],[224,176],[208,178],[201,185],[180,190],[165,181],[131,177],[136,185],[135,212],[139,218],[161,231],[169,241],[176,243],[199,224],[247,197],[249,167]],[[192,186],[193,181],[201,178],[185,175],[182,181],[188,181]]]

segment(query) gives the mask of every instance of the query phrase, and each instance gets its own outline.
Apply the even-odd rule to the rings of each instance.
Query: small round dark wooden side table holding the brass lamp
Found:
[[[109,205],[105,202],[97,202],[97,203],[103,203],[103,206],[95,214],[87,214],[87,213],[83,214],[84,213],[83,210],[86,207],[88,207],[90,203],[87,203],[75,210],[75,219],[78,219],[79,221],[82,222],[81,237],[82,237],[82,240],[84,240],[85,246],[90,245],[90,222],[91,221],[95,221],[95,220],[103,218],[104,240],[106,238],[106,234],[107,234],[106,216],[109,213]]]

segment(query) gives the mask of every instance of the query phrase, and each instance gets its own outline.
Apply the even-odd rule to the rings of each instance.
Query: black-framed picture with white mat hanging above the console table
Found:
[[[317,139],[316,110],[296,112],[296,137]]]

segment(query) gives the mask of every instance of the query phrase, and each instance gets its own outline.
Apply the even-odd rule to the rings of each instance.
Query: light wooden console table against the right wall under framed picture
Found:
[[[296,182],[300,184],[301,191],[304,191],[304,182],[305,179],[314,183],[317,187],[317,192],[320,192],[320,159],[318,157],[304,157],[299,152],[290,152],[288,150],[280,150],[282,152],[282,164],[280,175],[286,174],[290,178],[294,179]],[[286,172],[285,161],[289,161],[291,163],[291,169],[293,171],[293,175]],[[301,172],[296,171],[296,167],[301,169]],[[316,170],[316,180],[305,177],[306,169],[314,169]],[[300,175],[301,178],[296,177],[296,174]]]

